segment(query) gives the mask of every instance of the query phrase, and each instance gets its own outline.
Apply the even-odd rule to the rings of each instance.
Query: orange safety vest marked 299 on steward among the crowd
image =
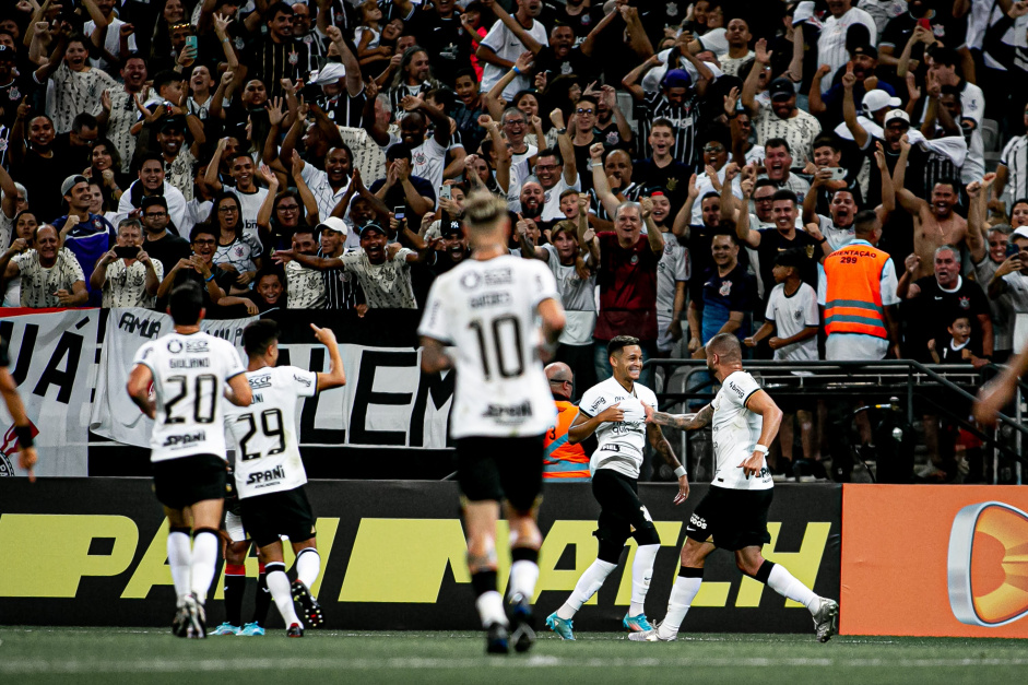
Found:
[[[862,333],[888,340],[882,306],[882,269],[887,252],[863,240],[825,258],[825,332]]]

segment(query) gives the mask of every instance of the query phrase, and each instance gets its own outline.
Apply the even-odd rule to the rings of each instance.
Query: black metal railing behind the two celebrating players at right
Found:
[[[713,399],[717,380],[709,375],[704,359],[658,359],[646,363],[654,370],[663,370],[663,387],[655,390],[661,406],[682,403],[705,404]],[[1018,382],[1014,401],[1014,416],[1001,414],[997,424],[1008,427],[1014,445],[1000,439],[1000,430],[982,430],[969,420],[970,404],[983,382],[983,373],[991,377],[1002,367],[989,365],[979,371],[970,366],[926,365],[913,359],[881,359],[877,362],[779,362],[749,359],[745,368],[773,397],[816,398],[838,401],[852,400],[862,404],[903,398],[907,423],[913,424],[915,400],[921,414],[935,413],[959,425],[981,439],[993,451],[993,477],[1000,457],[1016,461],[1017,482],[1021,482],[1021,465],[1028,464],[1023,456],[1023,446],[1028,438],[1024,425],[1023,398],[1028,394],[1028,383]],[[685,369],[685,373],[682,373]],[[925,411],[925,406],[932,412]],[[683,434],[683,450],[688,450],[688,440]]]

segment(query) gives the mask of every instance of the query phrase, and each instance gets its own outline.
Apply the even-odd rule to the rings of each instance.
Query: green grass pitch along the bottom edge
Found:
[[[544,629],[545,630],[545,629]],[[0,683],[1018,683],[1021,640],[680,635],[629,642],[545,633],[528,654],[487,658],[476,633],[308,630],[286,639],[173,637],[154,628],[0,627]]]

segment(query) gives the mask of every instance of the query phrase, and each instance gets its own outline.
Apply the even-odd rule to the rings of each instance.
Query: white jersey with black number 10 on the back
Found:
[[[433,283],[417,332],[453,347],[453,438],[533,436],[553,426],[557,410],[536,354],[544,299],[560,302],[550,268],[509,255],[465,260]]]

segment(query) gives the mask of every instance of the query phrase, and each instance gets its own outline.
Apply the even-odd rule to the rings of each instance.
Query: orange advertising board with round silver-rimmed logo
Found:
[[[843,635],[1028,638],[1028,491],[842,491]]]

